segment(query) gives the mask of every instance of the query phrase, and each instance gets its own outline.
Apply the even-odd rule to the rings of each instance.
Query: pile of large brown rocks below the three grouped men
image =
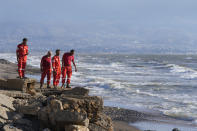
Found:
[[[52,91],[51,95],[43,92],[44,95],[17,99],[13,105],[18,113],[37,118],[42,130],[112,131],[111,119],[103,114],[102,98],[88,93],[80,87]]]

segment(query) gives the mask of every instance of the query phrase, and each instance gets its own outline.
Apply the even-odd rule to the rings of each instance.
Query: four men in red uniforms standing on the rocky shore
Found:
[[[25,68],[28,56],[28,45],[27,38],[24,38],[22,43],[17,46],[16,56],[18,61],[18,74],[20,79],[24,79],[25,77]],[[40,88],[43,87],[44,79],[47,76],[47,88],[50,87],[51,82],[51,73],[53,72],[53,86],[57,88],[59,85],[60,77],[62,74],[62,86],[65,87],[65,79],[67,76],[67,84],[66,88],[70,87],[70,81],[72,76],[72,63],[75,67],[75,71],[77,72],[77,67],[74,61],[74,50],[70,52],[64,53],[62,57],[62,66],[60,62],[60,50],[57,49],[55,55],[52,57],[52,52],[48,51],[45,56],[42,57],[40,62],[40,70],[41,70],[41,79],[40,79]]]

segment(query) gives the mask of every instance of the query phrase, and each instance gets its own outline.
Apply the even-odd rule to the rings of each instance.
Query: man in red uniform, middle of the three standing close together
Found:
[[[60,65],[60,50],[56,50],[56,55],[52,58],[52,67],[53,67],[53,86],[57,88],[59,85],[59,80],[61,76],[61,65]]]

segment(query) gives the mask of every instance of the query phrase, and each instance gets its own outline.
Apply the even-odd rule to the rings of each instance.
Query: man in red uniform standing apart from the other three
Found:
[[[27,38],[23,39],[23,42],[17,46],[16,57],[18,61],[18,74],[19,78],[25,78],[25,68],[28,55]]]

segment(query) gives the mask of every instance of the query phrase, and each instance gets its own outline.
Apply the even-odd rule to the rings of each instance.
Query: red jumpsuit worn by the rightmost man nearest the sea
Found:
[[[74,56],[70,55],[70,53],[65,53],[62,58],[63,62],[63,71],[62,71],[62,84],[65,83],[66,75],[67,75],[67,84],[70,84],[71,76],[72,76],[72,66],[71,62],[74,62]]]

